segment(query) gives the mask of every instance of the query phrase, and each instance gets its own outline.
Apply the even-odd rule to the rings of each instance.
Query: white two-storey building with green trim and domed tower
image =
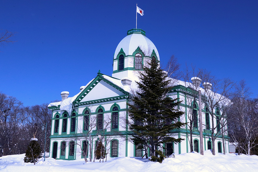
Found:
[[[126,109],[130,101],[130,93],[135,89],[138,81],[137,72],[143,68],[151,58],[159,59],[157,48],[141,29],[132,29],[127,32],[127,36],[118,44],[113,58],[112,77],[97,73],[86,86],[80,88],[80,92],[68,97],[69,92],[61,93],[62,101],[50,103],[52,110],[52,128],[50,136],[50,157],[57,159],[80,159],[82,151],[89,149],[94,153],[95,144],[101,138],[101,132],[105,132],[103,144],[107,145],[110,157],[136,157],[143,156],[143,151],[128,141],[130,134],[127,132],[125,119],[128,118]],[[173,89],[167,96],[182,100],[180,109],[185,112],[185,116],[180,119],[187,122],[187,114],[194,106],[193,113],[198,113],[198,101],[188,102],[186,97],[191,97],[187,87],[191,83],[177,81]],[[206,116],[205,105],[202,103],[202,121],[204,126],[203,142],[204,150],[211,149],[210,116]],[[199,116],[199,115],[198,115]],[[196,131],[193,134],[194,150],[200,151],[200,136],[196,119]],[[92,130],[91,130],[92,129]],[[89,132],[91,130],[91,132]],[[184,138],[179,144],[164,143],[164,147],[169,154],[188,153],[190,151],[187,137],[187,127],[172,132],[175,138]],[[89,148],[89,136],[91,135],[92,146]],[[100,135],[100,137],[98,136]],[[227,136],[225,136],[227,137]],[[87,141],[86,141],[87,138]],[[107,141],[104,141],[107,140]],[[108,141],[110,140],[110,142]],[[76,144],[74,144],[76,143]],[[226,141],[226,152],[228,152],[228,142]],[[218,137],[215,142],[216,151],[222,151],[222,139]],[[87,157],[88,157],[87,155]],[[94,156],[94,154],[93,154]]]

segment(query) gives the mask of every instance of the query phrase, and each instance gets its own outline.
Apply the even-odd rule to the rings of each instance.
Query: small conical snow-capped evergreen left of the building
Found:
[[[36,141],[35,139],[31,140],[25,153],[24,162],[34,163],[35,165],[38,159],[42,157],[41,152],[42,150],[38,141]]]

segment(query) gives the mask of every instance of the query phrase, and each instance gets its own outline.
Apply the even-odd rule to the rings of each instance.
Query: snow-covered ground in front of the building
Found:
[[[7,155],[0,157],[0,171],[18,171],[18,172],[46,172],[46,171],[105,171],[105,172],[151,172],[151,171],[177,171],[177,172],[195,172],[195,171],[258,171],[258,156],[252,155],[235,155],[216,153],[212,155],[210,150],[204,152],[204,156],[199,153],[185,153],[175,155],[175,158],[167,158],[163,163],[150,162],[147,159],[123,157],[123,158],[107,158],[107,162],[99,163],[98,161],[87,162],[84,159],[73,161],[55,160],[53,158],[43,158],[37,162],[24,163],[25,154]]]

